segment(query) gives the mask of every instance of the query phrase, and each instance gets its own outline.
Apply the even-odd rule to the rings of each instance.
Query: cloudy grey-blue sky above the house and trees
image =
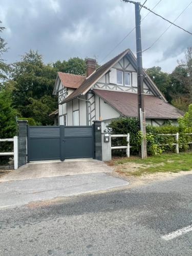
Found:
[[[159,1],[147,0],[145,6],[152,9]],[[174,21],[189,3],[161,0],[154,11]],[[2,0],[0,20],[6,30],[1,36],[9,47],[3,57],[11,63],[33,49],[46,63],[78,56],[96,57],[101,65],[127,48],[135,54],[135,30],[112,51],[135,27],[134,8],[121,0]],[[141,17],[147,13],[142,8]],[[192,4],[175,23],[192,32],[191,14]],[[169,25],[150,13],[141,23],[142,49],[150,47]],[[170,73],[190,46],[192,35],[172,26],[143,53],[143,67],[160,66]]]

